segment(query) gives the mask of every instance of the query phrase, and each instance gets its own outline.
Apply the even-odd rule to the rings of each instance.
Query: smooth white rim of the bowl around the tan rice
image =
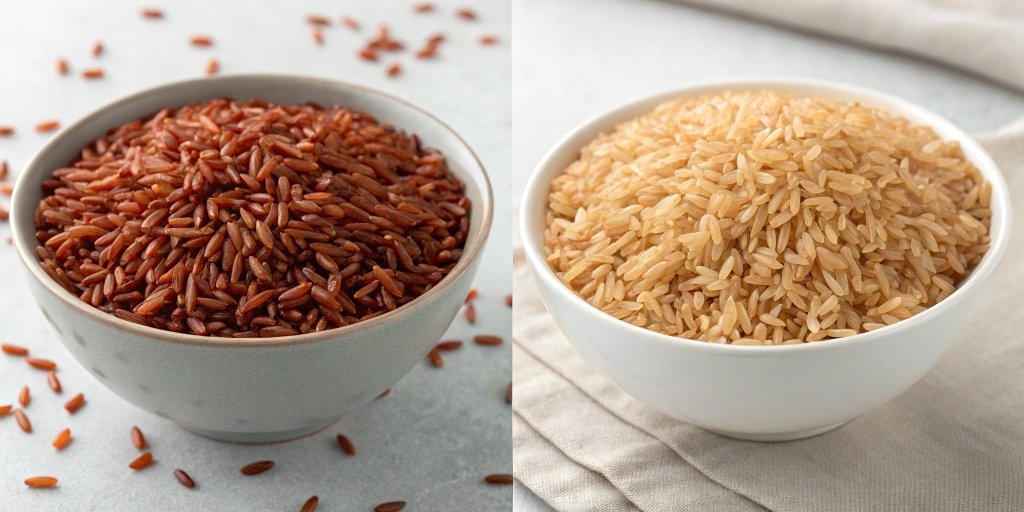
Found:
[[[792,91],[795,87],[819,89],[822,91],[827,90],[828,92],[839,93],[853,98],[850,100],[870,99],[872,101],[883,103],[886,105],[884,109],[890,111],[892,114],[902,117],[912,115],[918,118],[914,121],[915,123],[926,124],[932,128],[941,128],[943,131],[951,134],[951,136],[947,135],[943,136],[943,138],[956,140],[962,147],[970,147],[971,152],[977,155],[977,158],[972,158],[971,162],[975,165],[979,172],[981,172],[982,175],[992,183],[992,200],[990,208],[992,210],[993,218],[998,218],[999,220],[999,224],[997,226],[998,230],[989,230],[989,238],[991,242],[988,251],[985,252],[981,262],[979,262],[971,273],[968,274],[967,279],[965,279],[959,286],[956,287],[952,294],[938,304],[935,304],[932,307],[910,316],[909,318],[879,328],[874,331],[859,333],[845,338],[822,340],[824,343],[813,342],[793,345],[732,345],[671,336],[614,318],[604,311],[592,306],[589,302],[569,290],[569,288],[555,275],[554,270],[552,270],[551,266],[548,265],[546,261],[546,252],[543,247],[544,244],[542,240],[543,231],[530,231],[530,218],[531,212],[536,212],[541,208],[545,211],[547,210],[550,179],[563,171],[563,169],[560,168],[553,169],[555,162],[563,158],[565,152],[571,152],[579,155],[582,145],[569,147],[569,145],[573,142],[573,139],[582,136],[584,133],[592,133],[595,130],[597,130],[597,133],[606,132],[615,125],[628,121],[629,119],[636,118],[637,116],[641,116],[646,112],[653,110],[657,104],[676,97],[706,94],[730,88],[739,90],[761,89],[786,92],[786,90]],[[1007,246],[1010,242],[1012,218],[1013,215],[1011,211],[1009,186],[1007,185],[998,166],[992,160],[988,152],[985,151],[985,148],[982,147],[981,144],[979,144],[969,133],[944,117],[912,101],[867,87],[819,79],[784,76],[755,76],[727,80],[701,81],[671,87],[668,89],[660,89],[653,93],[647,93],[634,97],[631,100],[620,103],[616,106],[583,121],[562,136],[557,142],[555,142],[555,144],[548,150],[541,161],[537,164],[534,171],[530,173],[530,176],[526,181],[525,188],[523,189],[522,200],[519,204],[519,214],[517,220],[519,223],[519,238],[522,241],[522,250],[535,279],[539,281],[538,286],[546,287],[548,290],[553,291],[556,300],[567,302],[569,307],[573,310],[583,311],[583,314],[589,315],[590,318],[596,322],[601,322],[606,326],[620,326],[622,329],[625,329],[627,335],[642,337],[647,341],[658,344],[694,349],[710,354],[763,357],[778,353],[790,353],[794,350],[803,352],[807,352],[809,350],[834,350],[864,343],[871,343],[872,341],[889,338],[892,335],[898,335],[899,333],[919,324],[928,322],[933,316],[952,313],[950,309],[957,303],[962,302],[964,297],[966,297],[972,290],[978,288],[978,286],[980,286],[980,284],[992,273],[992,270],[1002,259]]]

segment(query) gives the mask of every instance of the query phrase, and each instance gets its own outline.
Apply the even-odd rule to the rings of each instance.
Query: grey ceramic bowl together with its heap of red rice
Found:
[[[133,94],[22,173],[13,239],[65,346],[212,438],[327,427],[403,377],[467,296],[493,198],[435,117],[328,80]]]

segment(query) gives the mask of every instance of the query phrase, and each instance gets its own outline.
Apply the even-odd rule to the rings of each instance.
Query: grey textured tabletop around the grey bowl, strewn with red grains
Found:
[[[159,4],[160,2],[153,2]],[[456,19],[456,1],[437,1],[429,15],[412,13],[411,1],[359,2],[166,2],[167,17],[139,17],[140,2],[11,2],[0,16],[0,124],[18,128],[16,137],[0,138],[0,160],[16,172],[45,139],[32,132],[44,119],[70,122],[126,93],[148,86],[201,76],[210,57],[223,73],[279,72],[362,83],[408,98],[444,120],[478,153],[490,172],[497,212],[477,280],[479,322],[456,321],[449,335],[508,336],[511,313],[504,297],[511,290],[511,198],[514,187],[509,96],[509,5],[505,1],[472,2],[480,14],[475,24]],[[313,45],[306,13],[337,20],[351,14],[364,24],[353,34],[337,25],[325,31],[327,44]],[[202,14],[200,14],[202,13]],[[437,61],[416,61],[409,52],[397,56],[406,67],[397,79],[384,77],[384,65],[358,60],[355,48],[386,22],[397,38],[416,47],[428,35],[443,31],[449,42]],[[193,34],[210,34],[210,49],[188,46]],[[499,46],[476,43],[497,34]],[[89,56],[100,39],[106,52]],[[57,56],[68,57],[75,72],[94,65],[108,78],[86,82],[57,77]],[[385,59],[390,62],[392,59]],[[5,201],[3,202],[5,204]],[[0,225],[0,237],[9,232]],[[319,434],[282,444],[243,446],[197,437],[177,426],[122,401],[89,376],[59,344],[24,289],[23,269],[11,248],[0,244],[0,310],[5,327],[0,342],[24,344],[35,355],[60,365],[65,392],[55,396],[44,374],[22,360],[0,355],[0,404],[15,401],[29,384],[34,399],[27,409],[35,432],[26,435],[12,417],[0,418],[0,510],[298,510],[311,495],[318,510],[371,510],[390,500],[410,502],[409,510],[508,510],[508,487],[481,482],[483,475],[510,472],[511,413],[505,387],[511,378],[508,346],[470,344],[445,357],[443,370],[421,365],[395,386],[393,393]],[[272,365],[268,360],[267,365]],[[301,371],[297,369],[297,371]],[[255,377],[254,378],[258,378]],[[87,404],[75,416],[60,407],[84,391]],[[148,437],[157,462],[133,473],[128,462],[138,454],[129,428],[138,425]],[[61,453],[50,446],[53,436],[70,427],[71,445]],[[334,436],[345,433],[358,455],[349,458]],[[278,466],[256,477],[243,477],[244,464],[271,459]],[[188,490],[171,476],[186,469],[199,486]],[[53,490],[32,490],[22,481],[31,475],[60,478]]]

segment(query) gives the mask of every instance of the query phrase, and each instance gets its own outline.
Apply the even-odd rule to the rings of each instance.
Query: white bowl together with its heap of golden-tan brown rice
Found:
[[[1006,250],[1006,182],[940,116],[766,79],[597,116],[530,177],[523,249],[556,324],[662,413],[723,435],[829,431],[957,339]]]

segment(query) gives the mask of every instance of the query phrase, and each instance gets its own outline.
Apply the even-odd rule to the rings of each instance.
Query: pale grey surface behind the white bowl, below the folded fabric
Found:
[[[1024,95],[904,55],[655,0],[513,0],[518,172],[564,133],[636,96],[700,81],[798,76],[871,87],[970,131],[1024,116]],[[516,204],[521,186],[515,189]],[[515,509],[550,510],[520,484]]]

